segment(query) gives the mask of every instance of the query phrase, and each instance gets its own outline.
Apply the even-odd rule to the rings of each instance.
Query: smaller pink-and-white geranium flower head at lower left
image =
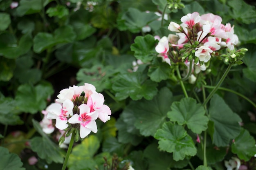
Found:
[[[72,132],[76,133],[75,140],[85,138],[90,132],[98,131],[96,119],[104,123],[110,120],[111,110],[103,104],[104,97],[96,92],[92,84],[72,86],[60,91],[56,103],[50,104],[42,113],[45,115],[40,125],[47,134],[54,131],[52,119],[56,119],[56,128],[64,130],[59,143]]]

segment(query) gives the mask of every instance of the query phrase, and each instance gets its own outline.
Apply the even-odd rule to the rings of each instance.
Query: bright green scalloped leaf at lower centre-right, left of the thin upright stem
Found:
[[[195,156],[197,150],[193,139],[180,125],[165,122],[155,133],[161,150],[173,153],[175,161],[183,160],[186,156]]]

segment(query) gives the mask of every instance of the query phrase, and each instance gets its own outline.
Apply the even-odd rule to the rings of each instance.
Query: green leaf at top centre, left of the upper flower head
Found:
[[[141,12],[135,8],[129,8],[122,16],[122,20],[125,20],[125,24],[132,33],[139,33],[143,26],[146,26],[149,22],[159,18],[155,13]]]

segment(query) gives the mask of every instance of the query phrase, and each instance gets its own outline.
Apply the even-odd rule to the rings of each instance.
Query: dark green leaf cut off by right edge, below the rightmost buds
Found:
[[[254,50],[254,46],[249,46],[248,51],[245,53],[245,57],[243,57],[243,62],[247,65],[247,68],[243,68],[243,73],[245,77],[250,79],[253,82],[256,82],[256,51]]]

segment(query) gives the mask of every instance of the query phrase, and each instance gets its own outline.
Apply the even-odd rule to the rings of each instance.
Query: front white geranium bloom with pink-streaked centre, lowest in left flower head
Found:
[[[97,124],[95,120],[98,118],[98,112],[90,112],[90,107],[86,104],[81,104],[79,107],[80,114],[74,114],[68,122],[70,124],[80,124],[80,137],[85,138],[90,132],[97,133]]]

